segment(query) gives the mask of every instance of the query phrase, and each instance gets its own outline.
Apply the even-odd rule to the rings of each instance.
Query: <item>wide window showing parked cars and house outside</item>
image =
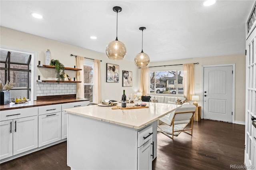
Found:
[[[150,72],[150,92],[183,94],[183,71],[172,70]]]

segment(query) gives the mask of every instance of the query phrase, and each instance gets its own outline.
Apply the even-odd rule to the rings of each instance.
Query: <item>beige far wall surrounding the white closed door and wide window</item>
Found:
[[[194,64],[195,70],[195,94],[202,99],[202,66],[215,65],[215,64],[235,64],[235,122],[245,122],[245,66],[246,66],[245,54],[236,54],[230,56],[214,56],[204,58],[188,58],[182,60],[170,60],[164,62],[152,62],[150,66],[161,66],[171,64]],[[175,66],[178,67],[178,66]],[[167,67],[166,67],[167,68]],[[192,103],[190,101],[190,103]],[[202,100],[198,102],[202,106]]]

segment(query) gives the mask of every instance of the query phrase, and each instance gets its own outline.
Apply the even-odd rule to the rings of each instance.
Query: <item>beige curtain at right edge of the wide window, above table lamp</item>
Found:
[[[192,99],[194,95],[194,64],[183,64],[183,87],[184,97],[187,100]]]

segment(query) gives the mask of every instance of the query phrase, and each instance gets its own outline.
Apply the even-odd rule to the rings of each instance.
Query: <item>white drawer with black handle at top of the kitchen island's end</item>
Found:
[[[148,140],[153,137],[153,128],[152,125],[147,126],[146,128],[138,131],[138,147],[142,146]]]

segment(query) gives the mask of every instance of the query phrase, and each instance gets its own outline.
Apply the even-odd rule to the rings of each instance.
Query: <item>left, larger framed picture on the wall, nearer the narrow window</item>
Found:
[[[107,63],[107,82],[119,82],[119,66]]]

